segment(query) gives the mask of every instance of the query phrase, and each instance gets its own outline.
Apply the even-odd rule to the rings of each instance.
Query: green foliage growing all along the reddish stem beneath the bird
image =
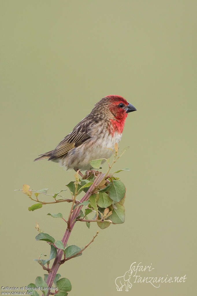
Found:
[[[106,148],[108,149],[108,148]],[[127,148],[126,148],[127,149]],[[122,154],[126,151],[126,149],[123,150]],[[41,190],[32,190],[30,189],[29,185],[23,185],[23,193],[26,194],[32,201],[35,201],[36,203],[33,204],[28,208],[29,211],[37,210],[43,205],[46,204],[54,204],[58,202],[71,202],[71,210],[69,213],[68,221],[66,221],[62,215],[62,213],[48,213],[47,215],[50,215],[52,218],[61,218],[67,223],[67,229],[70,231],[71,223],[75,223],[76,221],[85,222],[86,226],[90,228],[91,222],[96,222],[97,225],[100,227],[100,229],[105,229],[110,226],[110,224],[121,224],[125,221],[125,208],[124,208],[124,202],[125,202],[125,196],[126,196],[126,188],[123,182],[120,180],[120,178],[116,177],[114,174],[119,173],[121,171],[129,171],[128,168],[117,170],[113,173],[110,173],[111,168],[113,167],[114,163],[118,160],[120,156],[118,156],[118,145],[115,144],[114,150],[114,159],[112,164],[109,164],[109,161],[107,159],[98,159],[98,160],[92,160],[90,162],[90,165],[92,166],[92,170],[89,170],[85,173],[85,175],[82,176],[82,178],[79,178],[79,172],[75,175],[75,181],[69,182],[67,184],[67,188],[69,189],[69,192],[71,194],[71,198],[66,198],[60,195],[62,191],[61,190],[58,193],[55,194],[47,194],[48,189],[41,189]],[[101,165],[104,161],[107,161],[108,163],[108,171],[106,174],[101,174],[98,169],[101,169]],[[97,170],[94,170],[97,169]],[[99,176],[102,176],[102,179],[98,184],[95,186],[95,179]],[[104,176],[104,178],[103,178]],[[100,178],[100,177],[99,177]],[[93,185],[93,186],[92,186]],[[93,189],[92,189],[93,188]],[[34,197],[32,197],[34,192]],[[85,193],[84,197],[80,200],[77,200],[76,197],[81,194]],[[40,194],[44,195],[51,195],[53,197],[53,201],[43,201],[40,200]],[[86,194],[88,194],[87,198]],[[60,197],[60,198],[59,198]],[[72,220],[72,217],[74,216],[74,221]],[[89,246],[90,243],[92,243],[95,239],[97,234],[93,237],[92,241],[89,242],[83,249],[76,246],[76,245],[67,245],[66,242],[62,242],[61,240],[55,240],[51,235],[44,233],[40,230],[40,226],[38,223],[36,223],[36,229],[39,231],[39,234],[35,237],[38,241],[45,241],[48,244],[50,244],[51,250],[50,255],[48,259],[41,259],[44,255],[43,253],[39,255],[38,259],[34,259],[44,270],[46,270],[48,273],[52,271],[52,269],[49,268],[50,261],[57,258],[57,251],[61,251],[62,255],[64,256],[64,259],[61,260],[60,258],[60,264],[66,262],[67,260],[70,260],[72,258],[78,257],[82,255],[82,252]],[[66,245],[66,246],[65,246]],[[55,262],[55,261],[54,261]],[[32,288],[32,295],[38,296],[37,289],[40,287],[40,290],[42,290],[44,296],[48,295],[48,289],[47,289],[47,278],[48,274],[44,274],[44,279],[42,277],[38,276],[35,280],[35,284],[31,283],[28,285],[29,288]],[[61,278],[60,274],[56,274],[53,277],[53,283],[58,289],[58,292],[56,291],[55,294],[57,296],[66,296],[68,292],[71,290],[71,283],[69,279]],[[53,294],[53,293],[50,293]]]

